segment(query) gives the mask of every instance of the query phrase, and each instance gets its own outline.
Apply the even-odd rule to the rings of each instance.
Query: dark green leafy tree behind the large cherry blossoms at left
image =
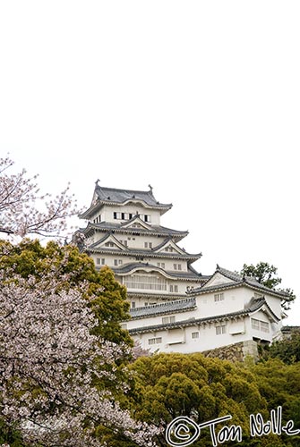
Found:
[[[69,289],[80,287],[88,283],[88,294],[93,295],[91,307],[99,320],[95,329],[97,335],[109,342],[128,346],[133,345],[127,331],[120,327],[120,322],[129,318],[129,303],[126,300],[126,289],[115,280],[111,269],[107,266],[100,271],[90,257],[73,245],[62,246],[55,241],[49,241],[43,247],[39,240],[22,240],[13,245],[6,240],[0,240],[0,269],[5,272],[9,281],[15,274],[28,278],[42,277],[59,267],[63,276],[68,274],[68,281],[61,283],[61,287]]]

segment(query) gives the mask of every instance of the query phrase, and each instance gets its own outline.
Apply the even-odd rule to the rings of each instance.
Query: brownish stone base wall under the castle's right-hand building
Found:
[[[243,362],[244,358],[248,356],[252,357],[254,361],[259,358],[257,343],[253,340],[229,344],[215,350],[206,350],[202,354],[205,357],[221,358],[232,362]]]

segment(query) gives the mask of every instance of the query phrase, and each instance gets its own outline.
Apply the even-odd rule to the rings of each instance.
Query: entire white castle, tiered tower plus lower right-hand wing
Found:
[[[145,350],[199,352],[237,342],[277,338],[286,295],[220,266],[197,273],[178,243],[187,236],[160,224],[172,207],[150,190],[104,188],[96,182],[80,232],[95,265],[109,266],[127,288],[131,319],[124,322]]]

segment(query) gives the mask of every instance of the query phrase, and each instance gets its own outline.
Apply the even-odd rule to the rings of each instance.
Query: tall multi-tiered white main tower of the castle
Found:
[[[186,299],[187,291],[207,280],[192,266],[201,253],[187,253],[178,245],[188,232],[160,224],[171,207],[160,203],[151,187],[119,190],[97,181],[90,207],[81,214],[88,221],[80,230],[87,252],[97,267],[114,270],[132,308]]]

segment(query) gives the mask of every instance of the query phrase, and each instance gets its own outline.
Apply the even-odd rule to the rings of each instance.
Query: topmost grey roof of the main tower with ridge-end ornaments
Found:
[[[93,199],[90,208],[80,215],[82,219],[88,219],[100,207],[104,205],[117,206],[126,205],[127,203],[140,203],[142,207],[158,209],[161,214],[165,213],[172,207],[172,204],[161,204],[153,196],[152,188],[148,191],[141,190],[120,190],[116,188],[105,188],[96,182]]]

